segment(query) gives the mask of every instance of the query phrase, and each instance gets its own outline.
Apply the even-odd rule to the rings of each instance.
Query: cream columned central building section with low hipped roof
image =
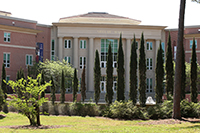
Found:
[[[138,48],[141,34],[144,33],[146,59],[147,59],[147,96],[154,97],[155,64],[157,50],[162,41],[165,47],[165,26],[140,25],[141,21],[108,14],[105,12],[89,12],[83,15],[60,18],[59,22],[52,23],[51,29],[51,59],[68,60],[78,69],[78,78],[81,78],[83,66],[86,66],[87,99],[93,97],[94,78],[93,67],[95,50],[100,53],[101,65],[101,100],[104,100],[106,91],[106,57],[109,43],[112,44],[114,83],[116,92],[116,62],[120,33],[125,59],[125,95],[129,92],[129,61],[131,42],[135,34]],[[138,50],[137,50],[138,52]],[[139,57],[139,53],[138,53]],[[71,92],[71,89],[68,88]],[[116,96],[116,95],[114,95]]]

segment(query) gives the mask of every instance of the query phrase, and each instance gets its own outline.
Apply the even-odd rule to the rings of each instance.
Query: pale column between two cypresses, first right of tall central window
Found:
[[[126,49],[125,49],[125,92],[129,91],[130,53],[131,53],[131,39],[126,39]]]

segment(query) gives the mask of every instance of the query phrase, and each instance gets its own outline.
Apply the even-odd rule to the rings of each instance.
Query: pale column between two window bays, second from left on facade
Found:
[[[74,65],[74,68],[78,69],[78,37],[74,37],[73,65]]]

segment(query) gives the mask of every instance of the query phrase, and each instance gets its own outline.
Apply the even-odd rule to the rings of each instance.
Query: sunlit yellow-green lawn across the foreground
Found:
[[[0,114],[4,114],[0,112]],[[29,125],[28,119],[17,113],[8,113],[0,119],[0,126]],[[70,117],[70,116],[41,116],[43,125],[68,125],[55,129],[9,129],[0,128],[0,133],[198,133],[200,123],[182,123],[175,125],[138,125],[142,120],[123,121],[97,117]]]

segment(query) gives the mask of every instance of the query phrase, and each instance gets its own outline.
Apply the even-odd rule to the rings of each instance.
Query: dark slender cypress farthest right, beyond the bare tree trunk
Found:
[[[190,82],[191,82],[191,101],[197,103],[197,57],[196,57],[196,46],[195,39],[193,39],[192,45],[192,59],[191,59],[191,72],[190,72]]]

